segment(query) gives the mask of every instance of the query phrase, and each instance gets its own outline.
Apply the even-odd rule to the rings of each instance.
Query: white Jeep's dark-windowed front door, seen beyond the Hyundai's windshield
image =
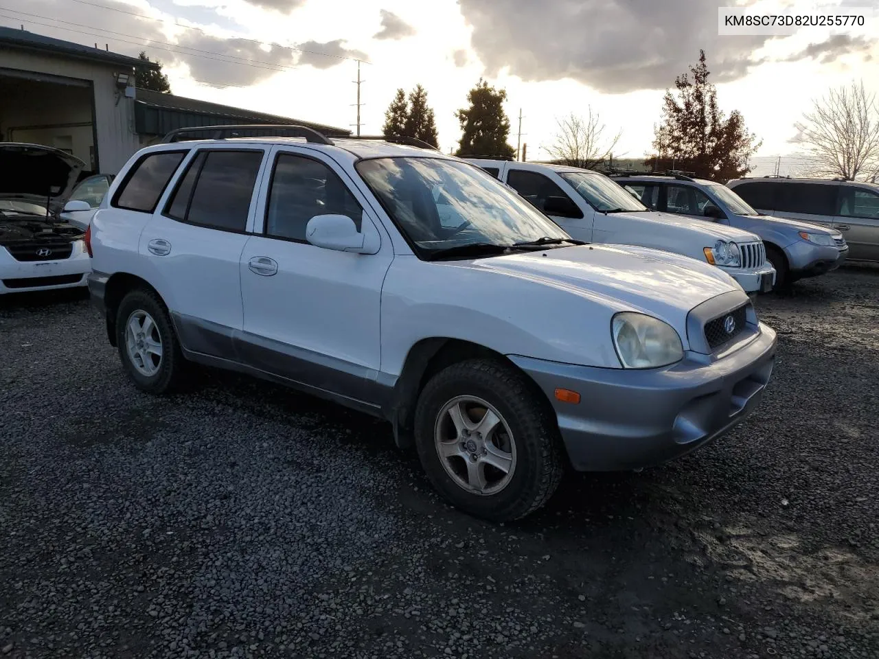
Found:
[[[585,201],[579,195],[568,194],[546,174],[520,169],[514,163],[506,167],[506,183],[572,238],[592,243],[592,209],[584,212]]]

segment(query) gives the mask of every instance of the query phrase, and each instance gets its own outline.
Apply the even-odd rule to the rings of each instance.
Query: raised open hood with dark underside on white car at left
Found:
[[[0,199],[16,199],[61,211],[85,163],[57,148],[0,142]]]

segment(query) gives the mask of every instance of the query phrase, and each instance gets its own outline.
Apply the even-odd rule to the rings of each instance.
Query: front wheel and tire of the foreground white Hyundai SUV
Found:
[[[456,421],[453,409],[469,418]],[[496,522],[536,511],[562,478],[552,410],[526,376],[491,359],[462,361],[432,377],[418,397],[415,444],[442,496],[461,511]]]

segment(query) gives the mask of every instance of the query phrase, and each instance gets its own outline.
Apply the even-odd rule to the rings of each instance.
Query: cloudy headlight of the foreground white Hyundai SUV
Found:
[[[623,368],[657,368],[684,358],[678,332],[650,315],[628,311],[614,315],[611,336]]]

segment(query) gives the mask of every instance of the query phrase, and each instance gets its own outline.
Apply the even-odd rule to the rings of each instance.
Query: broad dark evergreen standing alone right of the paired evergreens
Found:
[[[504,112],[505,90],[490,87],[482,78],[467,95],[469,107],[455,112],[461,122],[458,156],[512,157],[516,149],[507,144],[510,119]]]

